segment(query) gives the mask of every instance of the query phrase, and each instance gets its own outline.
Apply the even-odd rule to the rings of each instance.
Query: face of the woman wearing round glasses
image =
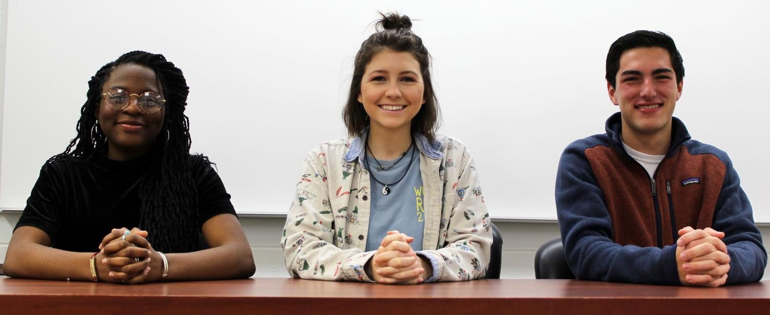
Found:
[[[112,70],[109,79],[102,85],[102,93],[120,88],[130,94],[146,91],[163,94],[155,71],[143,65],[119,65]],[[149,151],[163,127],[166,108],[153,114],[145,114],[137,106],[138,98],[131,97],[128,107],[115,111],[107,106],[104,98],[95,111],[99,127],[107,137],[107,157],[126,161]]]

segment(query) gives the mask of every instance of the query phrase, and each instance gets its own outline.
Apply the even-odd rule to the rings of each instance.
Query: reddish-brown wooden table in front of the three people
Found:
[[[770,282],[664,287],[581,280],[389,286],[282,278],[141,284],[0,277],[0,313],[770,313]],[[483,312],[483,313],[482,313]]]

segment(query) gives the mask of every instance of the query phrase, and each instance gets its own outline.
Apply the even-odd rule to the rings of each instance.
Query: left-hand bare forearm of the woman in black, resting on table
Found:
[[[92,281],[93,253],[75,253],[41,244],[11,244],[5,254],[3,272],[8,277]],[[95,261],[95,264],[100,264]]]

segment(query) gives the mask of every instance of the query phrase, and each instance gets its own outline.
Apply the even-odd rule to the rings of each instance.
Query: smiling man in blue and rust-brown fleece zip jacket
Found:
[[[607,55],[620,108],[561,155],[556,205],[578,279],[718,287],[762,279],[767,255],[724,151],[672,118],[685,68],[674,41],[634,31]]]

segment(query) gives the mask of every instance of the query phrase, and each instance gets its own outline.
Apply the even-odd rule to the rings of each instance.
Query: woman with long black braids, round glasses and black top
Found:
[[[163,55],[131,51],[99,69],[77,135],[40,171],[5,274],[125,284],[250,277],[229,194],[213,163],[189,154],[188,93]]]

